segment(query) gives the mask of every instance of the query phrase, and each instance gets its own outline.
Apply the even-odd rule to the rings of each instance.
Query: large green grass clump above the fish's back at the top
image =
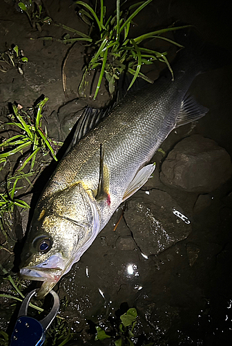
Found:
[[[93,48],[92,53],[90,53],[90,58],[84,67],[84,74],[79,84],[79,94],[83,94],[85,91],[87,83],[86,76],[89,71],[95,69],[99,69],[100,75],[95,90],[94,100],[97,98],[97,93],[99,92],[99,87],[104,75],[108,81],[108,90],[111,95],[115,91],[115,82],[119,79],[119,75],[122,71],[128,71],[133,75],[133,80],[128,86],[128,89],[131,88],[137,77],[143,78],[147,82],[153,82],[146,77],[146,75],[141,73],[143,64],[153,64],[154,61],[159,60],[168,66],[168,69],[170,69],[173,75],[171,66],[166,58],[167,52],[160,53],[152,49],[144,48],[142,43],[147,39],[164,39],[178,47],[182,47],[182,45],[177,44],[177,42],[162,37],[161,34],[184,28],[184,26],[164,28],[138,37],[129,37],[133,19],[143,8],[151,3],[151,1],[153,0],[140,1],[130,6],[127,10],[121,10],[120,0],[117,0],[115,13],[109,17],[106,16],[104,0],[96,0],[95,9],[84,1],[75,1],[81,8],[81,10],[79,10],[81,18],[90,26],[89,39],[92,39],[90,48]],[[125,2],[126,1],[124,1],[124,3]]]

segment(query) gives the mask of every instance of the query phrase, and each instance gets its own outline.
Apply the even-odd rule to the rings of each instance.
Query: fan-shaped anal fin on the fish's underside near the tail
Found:
[[[177,122],[175,127],[189,124],[189,122],[198,120],[205,116],[209,111],[208,108],[203,107],[201,104],[193,98],[193,96],[186,94],[182,101],[180,113],[177,116]]]

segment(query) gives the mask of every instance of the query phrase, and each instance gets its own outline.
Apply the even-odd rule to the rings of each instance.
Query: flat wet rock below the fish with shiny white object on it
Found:
[[[128,201],[124,217],[133,239],[145,255],[157,255],[188,237],[192,229],[177,202],[168,193],[156,189],[149,195],[137,192],[136,199]]]

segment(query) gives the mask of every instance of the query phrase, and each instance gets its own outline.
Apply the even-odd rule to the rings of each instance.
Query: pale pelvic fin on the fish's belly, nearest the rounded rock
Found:
[[[155,163],[151,163],[150,165],[146,165],[145,167],[142,167],[137,174],[135,174],[135,177],[131,181],[131,183],[128,185],[128,188],[126,189],[126,192],[124,193],[124,197],[122,201],[126,201],[129,197],[131,197],[139,188],[142,188],[142,185],[148,181],[149,176],[153,174],[155,170]]]

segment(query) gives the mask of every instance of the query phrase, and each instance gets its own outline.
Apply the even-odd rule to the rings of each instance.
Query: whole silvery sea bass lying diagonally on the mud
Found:
[[[183,37],[188,42],[186,33]],[[168,134],[208,111],[187,94],[212,54],[202,46],[177,53],[174,81],[168,72],[128,93],[57,166],[37,203],[21,255],[21,276],[43,281],[39,298],[70,271],[117,207],[146,183],[155,169],[148,163]]]

